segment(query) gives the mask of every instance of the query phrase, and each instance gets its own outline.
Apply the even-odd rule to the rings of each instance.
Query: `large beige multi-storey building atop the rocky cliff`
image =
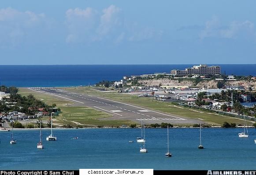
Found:
[[[186,68],[185,70],[174,69],[171,70],[171,74],[173,75],[189,75],[189,74],[198,74],[198,75],[216,75],[220,74],[219,66],[207,66],[207,65],[199,65],[193,66],[191,68]]]

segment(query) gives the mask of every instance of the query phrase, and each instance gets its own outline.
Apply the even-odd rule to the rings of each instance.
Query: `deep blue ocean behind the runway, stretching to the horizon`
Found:
[[[256,76],[256,64],[222,65],[226,75]],[[193,65],[1,65],[0,84],[15,87],[70,87],[94,85],[123,76],[170,73]],[[208,65],[212,66],[212,65]]]

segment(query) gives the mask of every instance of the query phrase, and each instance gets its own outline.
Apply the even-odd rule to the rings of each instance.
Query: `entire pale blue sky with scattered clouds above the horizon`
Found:
[[[5,0],[0,64],[256,64],[255,0]]]

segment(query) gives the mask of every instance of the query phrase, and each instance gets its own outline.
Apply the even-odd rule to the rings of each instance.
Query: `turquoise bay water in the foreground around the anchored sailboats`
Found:
[[[10,145],[11,132],[0,132],[0,169],[79,169],[79,168],[153,168],[154,170],[255,169],[256,129],[249,138],[238,138],[242,128],[203,128],[202,144],[197,149],[198,128],[171,128],[167,151],[167,129],[146,128],[148,153],[140,153],[136,137],[141,130],[56,129],[57,141],[44,141],[37,149],[39,130],[15,130],[16,145]],[[43,139],[50,134],[44,129]],[[78,139],[71,139],[78,137]],[[130,140],[134,140],[130,143]]]

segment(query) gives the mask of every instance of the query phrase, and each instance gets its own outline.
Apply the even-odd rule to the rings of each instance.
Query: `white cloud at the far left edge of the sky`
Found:
[[[32,36],[37,29],[42,29],[42,25],[47,26],[46,23],[44,14],[17,11],[11,7],[2,8],[0,9],[0,44],[17,45]]]

